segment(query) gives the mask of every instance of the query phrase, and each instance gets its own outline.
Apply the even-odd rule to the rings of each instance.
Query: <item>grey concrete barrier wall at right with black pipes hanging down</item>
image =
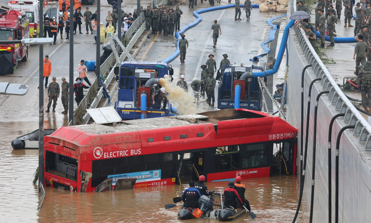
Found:
[[[290,30],[288,39],[288,122],[298,129],[301,134],[301,73],[308,60],[299,45],[294,29]],[[313,60],[311,60],[313,62]],[[314,66],[313,66],[314,68]],[[309,84],[316,78],[315,72],[309,67],[304,80],[304,137],[306,128],[306,113],[308,103]],[[304,200],[309,207],[311,201],[312,155],[313,155],[313,114],[316,96],[324,91],[321,81],[316,81],[311,94],[309,117],[308,158],[306,164]],[[316,132],[316,165],[315,165],[315,193],[313,205],[313,222],[327,222],[328,219],[328,126],[335,114],[335,104],[331,103],[328,94],[323,94],[318,105],[318,120]],[[338,117],[332,130],[332,222],[335,221],[335,147],[339,130],[347,126],[344,117]],[[362,122],[365,125],[365,122]],[[369,126],[368,126],[369,127]],[[371,153],[365,150],[365,143],[359,143],[359,136],[353,135],[354,130],[346,130],[341,137],[339,147],[339,222],[370,222],[371,212]],[[305,142],[305,140],[304,140]],[[298,175],[300,170],[301,140],[298,139]],[[303,213],[300,213],[303,214]]]

